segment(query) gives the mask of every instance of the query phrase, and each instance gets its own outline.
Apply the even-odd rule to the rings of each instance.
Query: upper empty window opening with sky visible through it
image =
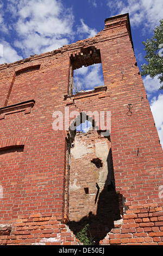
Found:
[[[82,48],[78,54],[71,54],[70,58],[70,95],[104,86],[101,54],[95,46]]]

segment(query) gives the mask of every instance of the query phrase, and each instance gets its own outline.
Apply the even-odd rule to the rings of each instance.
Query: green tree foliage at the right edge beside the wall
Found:
[[[156,26],[153,30],[154,35],[151,40],[147,39],[147,42],[142,42],[145,46],[146,56],[145,60],[148,64],[141,65],[141,75],[154,78],[158,76],[160,83],[163,82],[163,19],[160,20],[160,26]],[[163,85],[159,90],[163,89]]]

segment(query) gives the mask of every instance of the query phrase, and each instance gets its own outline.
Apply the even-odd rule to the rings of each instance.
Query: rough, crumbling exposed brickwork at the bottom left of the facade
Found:
[[[30,214],[17,217],[12,223],[12,231],[11,227],[0,228],[0,245],[82,245],[56,216]]]

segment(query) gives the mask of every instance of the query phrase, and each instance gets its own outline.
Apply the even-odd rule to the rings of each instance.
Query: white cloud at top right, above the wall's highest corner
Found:
[[[146,29],[153,31],[162,19],[163,2],[160,0],[108,0],[107,2],[112,14],[129,13],[131,25],[136,27],[141,25],[144,33]]]

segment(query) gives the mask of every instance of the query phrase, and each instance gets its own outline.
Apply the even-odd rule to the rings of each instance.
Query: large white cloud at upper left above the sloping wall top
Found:
[[[15,22],[13,45],[23,53],[30,54],[52,51],[70,43],[73,39],[74,17],[71,8],[64,8],[60,0],[8,0],[6,10]]]

